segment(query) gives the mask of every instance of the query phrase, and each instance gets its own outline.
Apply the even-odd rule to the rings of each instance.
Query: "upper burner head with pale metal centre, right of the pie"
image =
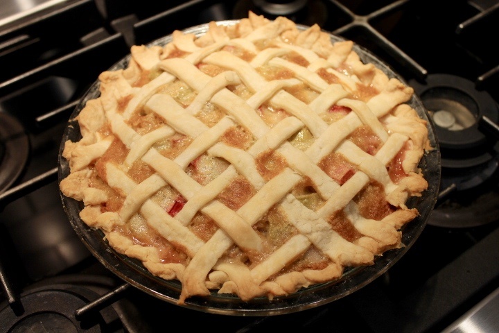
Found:
[[[447,168],[478,167],[493,159],[491,140],[480,130],[480,118],[496,122],[499,109],[492,97],[475,89],[470,80],[450,74],[429,75],[426,83],[412,80],[435,124],[441,164]]]

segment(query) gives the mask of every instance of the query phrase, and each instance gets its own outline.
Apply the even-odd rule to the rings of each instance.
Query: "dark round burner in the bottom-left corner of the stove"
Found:
[[[2,328],[12,333],[126,332],[119,308],[99,307],[99,311],[80,311],[82,315],[78,315],[79,310],[109,291],[111,280],[107,280],[92,275],[78,280],[65,275],[37,282],[21,293],[14,304],[0,304]]]

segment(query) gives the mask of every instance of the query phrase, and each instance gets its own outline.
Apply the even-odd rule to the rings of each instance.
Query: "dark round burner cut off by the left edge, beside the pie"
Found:
[[[29,140],[21,123],[0,112],[0,193],[20,176],[29,154]]]

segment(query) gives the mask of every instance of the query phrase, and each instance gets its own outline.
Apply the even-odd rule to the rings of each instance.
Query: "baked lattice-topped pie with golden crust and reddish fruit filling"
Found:
[[[133,46],[66,142],[65,196],[152,274],[273,298],[336,280],[401,245],[427,182],[412,89],[353,43],[249,13],[201,37]]]

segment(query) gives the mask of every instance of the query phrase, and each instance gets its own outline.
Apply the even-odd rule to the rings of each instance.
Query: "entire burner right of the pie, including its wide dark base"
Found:
[[[459,76],[431,74],[410,85],[432,116],[441,149],[440,200],[428,224],[471,228],[496,221],[499,142],[483,124],[498,121],[498,105]]]

